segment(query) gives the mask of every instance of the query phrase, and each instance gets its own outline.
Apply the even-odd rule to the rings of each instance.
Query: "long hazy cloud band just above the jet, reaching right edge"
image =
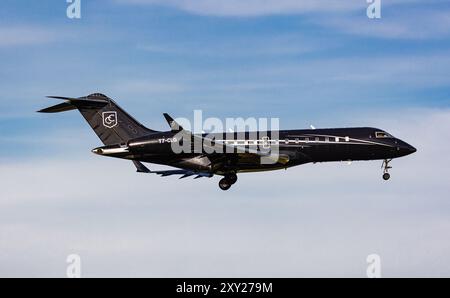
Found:
[[[317,101],[337,102],[342,98],[348,102],[349,98],[345,98],[348,93],[353,93],[352,98],[355,94],[363,94],[364,98],[373,99],[370,96],[373,92],[392,91],[388,88],[404,91],[404,88],[421,90],[450,85],[447,75],[450,58],[445,51],[426,56],[373,54],[366,57],[265,60],[255,64],[243,62],[242,65],[230,65],[232,67],[225,65],[220,69],[181,67],[177,72],[154,70],[147,76],[117,80],[118,83],[113,82],[105,90],[113,90],[112,94],[118,99],[131,100],[130,94],[133,98],[145,98],[148,94],[159,93],[162,98],[180,102],[204,96],[215,104],[230,98],[261,103],[262,96],[273,101],[273,94],[297,90],[296,100],[309,105],[306,102],[309,96]],[[327,88],[323,88],[324,82]],[[367,94],[368,90],[373,92]],[[255,94],[255,91],[261,94]],[[164,95],[164,92],[170,96]],[[155,105],[151,101],[148,103]],[[193,106],[198,106],[198,103],[193,102],[189,109]]]

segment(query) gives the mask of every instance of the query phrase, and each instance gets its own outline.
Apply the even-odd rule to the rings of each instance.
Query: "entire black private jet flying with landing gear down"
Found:
[[[383,179],[388,180],[390,161],[416,151],[386,131],[370,127],[207,135],[185,130],[164,114],[171,130],[154,131],[100,93],[80,98],[49,97],[64,102],[39,112],[80,111],[104,144],[92,150],[95,154],[131,160],[138,172],[163,177],[181,175],[197,179],[220,175],[222,190],[236,183],[238,173],[287,169],[310,162],[382,160]],[[174,145],[188,150],[174,150]],[[143,162],[177,169],[152,171]]]

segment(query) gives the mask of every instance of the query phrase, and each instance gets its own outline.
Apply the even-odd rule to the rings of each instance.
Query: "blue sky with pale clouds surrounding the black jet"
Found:
[[[352,267],[351,264],[354,255],[361,256],[364,261],[363,256],[372,253],[369,244],[361,249],[364,241],[376,243],[374,250],[385,251],[387,258],[394,260],[388,267],[392,275],[448,275],[448,269],[439,267],[436,262],[448,260],[447,254],[439,248],[449,244],[440,243],[437,232],[445,231],[444,227],[450,226],[445,219],[450,209],[443,200],[449,190],[443,183],[436,182],[445,176],[446,170],[431,159],[431,156],[445,154],[436,147],[448,145],[447,140],[437,140],[442,134],[448,135],[447,130],[436,129],[436,126],[447,127],[450,124],[448,1],[383,1],[380,20],[367,18],[367,4],[363,0],[82,0],[80,20],[68,19],[66,7],[64,0],[4,0],[0,4],[0,165],[2,177],[8,179],[10,184],[1,196],[4,207],[1,211],[4,215],[0,226],[3,231],[1,237],[10,243],[3,248],[3,256],[14,254],[17,247],[25,244],[37,249],[36,262],[23,260],[20,256],[10,258],[4,266],[9,273],[59,275],[58,261],[46,255],[38,240],[17,237],[14,231],[20,231],[24,235],[41,233],[43,239],[47,239],[50,247],[61,256],[74,249],[84,252],[91,264],[95,264],[91,267],[91,275],[158,276],[161,273],[176,276],[178,273],[191,276],[195,273],[228,273],[239,276],[258,272],[260,268],[264,276],[283,273],[296,276],[307,275],[308,272],[319,276],[360,276],[360,272],[364,272],[364,264],[361,267]],[[174,179],[163,181],[157,177],[136,176],[133,168],[121,161],[99,160],[89,151],[99,141],[80,115],[75,112],[58,115],[35,113],[53,104],[52,100],[45,98],[46,95],[84,96],[93,92],[102,92],[116,99],[137,119],[154,129],[167,128],[162,118],[163,112],[190,118],[195,109],[202,109],[206,117],[223,119],[279,117],[281,128],[286,129],[308,127],[310,124],[317,127],[369,125],[385,128],[405,138],[419,148],[419,157],[398,161],[398,167],[403,169],[399,169],[396,175],[403,174],[403,178],[392,181],[393,185],[387,189],[378,181],[379,165],[363,163],[344,169],[339,165],[306,166],[293,170],[291,175],[256,174],[243,178],[236,190],[226,196],[217,193],[217,181],[214,179],[195,183]],[[429,140],[427,145],[421,143],[425,138]],[[441,162],[445,164],[448,158]],[[144,216],[139,206],[155,204],[160,212],[169,212],[172,208],[170,201],[150,199],[151,203],[133,199],[133,204],[125,206],[127,214],[122,213],[120,210],[124,206],[121,204],[124,203],[120,196],[131,197],[136,190],[115,186],[114,192],[108,194],[110,201],[98,199],[97,194],[101,196],[101,192],[96,190],[93,181],[99,175],[99,168],[108,169],[107,177],[102,175],[100,178],[103,183],[108,183],[108,175],[114,176],[109,177],[114,181],[119,180],[117,175],[131,184],[139,181],[148,186],[139,186],[139,191],[149,191],[151,197],[156,193],[168,196],[179,207],[175,207],[173,215],[168,215],[166,219],[149,219],[150,222],[147,222],[134,217],[136,213]],[[422,169],[429,178],[421,181],[418,174],[412,174],[410,169]],[[346,178],[340,174],[342,171]],[[33,173],[40,174],[36,176]],[[306,173],[310,173],[308,177],[305,177]],[[328,175],[324,181],[329,184],[328,188],[338,189],[337,197],[332,202],[330,192],[317,191],[321,186],[314,178],[323,179],[323,173]],[[66,185],[60,176],[71,177],[86,191]],[[296,185],[297,179],[307,185],[301,198],[297,192],[287,191],[286,198],[277,200],[273,195],[276,191],[261,189],[264,183]],[[359,181],[360,188],[346,192],[342,185],[355,179]],[[377,183],[372,184],[375,179]],[[54,181],[65,187],[54,189]],[[17,190],[20,185],[29,185],[28,190]],[[171,189],[174,185],[187,189],[187,195],[174,192]],[[416,189],[409,191],[409,185],[415,185]],[[289,189],[289,185],[286,187]],[[367,195],[367,189],[378,195]],[[408,191],[405,192],[405,189]],[[427,207],[430,211],[425,216],[419,210],[424,206],[421,199],[429,193],[435,195],[432,196],[434,200],[430,198]],[[372,204],[370,206],[391,225],[384,224],[378,230],[370,220],[362,215],[357,216],[355,221],[361,220],[360,230],[357,231],[361,238],[352,238],[348,231],[354,222],[334,218],[337,215],[331,214],[331,209],[341,210],[347,215],[364,213],[368,207],[358,198]],[[381,202],[379,206],[376,205],[377,198]],[[407,198],[411,198],[411,205],[416,208],[412,212],[416,217],[404,213],[400,207],[408,203]],[[229,204],[222,200],[229,200]],[[62,201],[67,201],[71,207],[64,206]],[[192,201],[198,209],[183,213],[185,201]],[[338,204],[339,201],[348,203],[355,213],[349,213],[345,206]],[[111,210],[111,213],[105,213],[104,204],[109,204],[106,210]],[[195,233],[196,229],[204,232],[208,243],[212,241],[214,231],[203,230],[202,227],[206,222],[214,221],[204,214],[222,212],[217,204],[235,222],[253,227],[256,235],[265,235],[261,224],[268,218],[272,227],[267,237],[278,237],[278,241],[286,243],[286,246],[269,245],[267,251],[257,253],[268,260],[266,267],[256,259],[242,261],[245,257],[251,257],[250,250],[241,254],[239,251],[227,252],[212,244],[201,247],[191,244],[187,253],[163,253],[171,245],[180,245],[181,240],[177,240],[180,234],[191,235],[198,241],[203,239],[202,235]],[[394,204],[393,210],[402,210],[401,214],[390,210],[390,204]],[[30,212],[26,206],[33,206],[42,216],[30,214],[24,217],[23,214]],[[327,214],[328,220],[321,218],[321,221],[317,217],[305,222],[298,219],[295,212],[289,213],[285,208],[306,217],[308,213]],[[275,211],[271,213],[270,210]],[[125,227],[119,226],[112,217],[115,212],[130,223]],[[160,214],[153,212],[156,211],[151,211],[151,215],[160,218]],[[430,220],[428,224],[438,224],[430,229],[419,228],[422,229],[420,235],[408,234],[412,232],[407,228],[401,230],[401,227],[407,227],[406,223],[412,224],[424,216]],[[83,228],[86,222],[77,222],[79,217],[94,225],[93,232]],[[17,218],[22,218],[23,222]],[[74,235],[72,238],[64,236],[67,232],[62,228],[67,224],[64,218],[75,221],[67,226],[67,230]],[[177,218],[182,219],[179,223],[184,223],[188,231],[170,223],[169,219],[178,222]],[[217,226],[213,226],[223,233],[219,243],[224,246],[230,241],[243,241],[249,249],[256,250],[261,245],[267,245],[256,239],[248,242],[246,233],[251,234],[251,231],[236,232],[240,227],[228,222],[225,214],[218,215],[218,218]],[[290,224],[283,222],[283,219],[290,220]],[[399,222],[400,226],[396,225]],[[55,228],[57,223],[64,224]],[[76,223],[81,228],[77,228]],[[113,227],[111,230],[107,229],[108,224]],[[162,229],[165,224],[170,225],[167,239],[159,234],[160,230],[147,230],[150,238],[161,240],[160,246],[154,249],[164,261],[152,259],[142,249],[152,251],[142,235],[146,233],[143,226],[150,224]],[[337,224],[345,231],[341,242],[337,240],[342,245],[336,244],[335,247],[340,254],[324,251],[323,255],[310,255],[314,251],[322,251],[325,244],[331,247],[335,244],[323,243],[314,236],[312,227],[317,227],[322,239],[331,239],[327,238],[331,237],[331,232],[325,229],[328,224]],[[311,229],[305,231],[305,226]],[[397,239],[392,226],[395,226],[394,230],[398,229],[398,233],[409,235],[409,238],[405,236],[405,243],[396,244],[396,250],[392,247],[393,239]],[[134,229],[133,239],[126,236],[130,233],[128,228]],[[374,233],[374,242],[363,237],[364,228]],[[280,234],[280,229],[285,230],[285,234]],[[296,240],[293,235],[298,230],[303,238]],[[422,236],[428,236],[430,230],[436,232],[427,238],[434,245],[431,251],[435,252],[435,257],[425,253],[430,248],[416,249],[411,254],[418,261],[411,265],[407,258],[398,255],[399,250],[412,247]],[[236,238],[233,231],[238,234]],[[105,269],[108,261],[102,261],[101,249],[90,245],[92,239],[100,237],[96,232],[109,237],[103,239],[105,243],[114,242],[113,239],[123,241],[121,250],[101,246],[105,254],[120,255],[122,261],[131,255],[136,258],[140,256],[157,267],[150,270],[136,265],[133,271],[126,263],[120,263],[120,272]],[[385,239],[382,232],[391,238]],[[55,234],[61,237],[61,242],[53,242]],[[302,251],[301,243],[306,240],[309,244]],[[296,247],[295,252],[289,245]],[[228,264],[223,271],[215,271],[209,263],[196,267],[194,261],[199,261],[197,254],[203,252],[205,247],[211,254],[208,260],[221,256],[235,266]],[[333,264],[333,260],[339,259],[342,254],[347,255],[348,259],[344,257],[342,264],[336,264],[336,270],[326,266],[314,267],[308,262],[309,256],[310,260],[325,258]],[[297,261],[294,265],[304,268],[304,271],[290,267],[290,263],[281,256],[278,263],[271,261],[269,255],[290,256]],[[189,261],[186,261],[185,267],[177,267],[171,263],[171,257],[188,258]],[[1,260],[6,262],[6,259],[3,257]],[[278,260],[278,257],[275,259]],[[42,266],[44,261],[55,265],[46,269]],[[216,265],[220,267],[220,264],[218,262]],[[238,264],[246,264],[247,267]],[[8,272],[2,271],[0,274],[8,275]]]

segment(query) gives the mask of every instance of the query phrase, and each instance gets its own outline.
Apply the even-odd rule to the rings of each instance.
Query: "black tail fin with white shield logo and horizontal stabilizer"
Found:
[[[78,109],[105,145],[126,143],[130,139],[155,132],[136,121],[111,98],[100,93],[80,98],[49,97],[66,102],[38,112],[58,113]]]

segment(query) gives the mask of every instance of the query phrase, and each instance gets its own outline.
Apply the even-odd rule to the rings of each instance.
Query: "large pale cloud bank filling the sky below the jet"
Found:
[[[0,165],[0,275],[449,276],[450,111],[359,115],[418,148],[393,162],[305,165],[217,179],[140,175],[128,161],[25,159]]]

